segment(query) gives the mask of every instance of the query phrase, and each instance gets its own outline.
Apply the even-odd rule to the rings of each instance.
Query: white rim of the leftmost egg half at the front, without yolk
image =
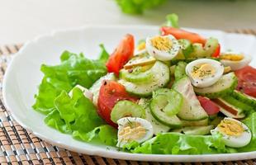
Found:
[[[153,126],[151,125],[151,123],[148,120],[145,120],[145,119],[142,119],[139,117],[124,117],[124,118],[121,118],[120,120],[117,120],[117,124],[118,124],[118,132],[117,132],[118,142],[116,144],[117,147],[121,148],[125,144],[127,144],[126,142],[121,141],[121,139],[119,137],[119,132],[124,129],[124,125],[126,125],[130,122],[138,122],[146,130],[145,136],[141,137],[140,139],[135,139],[136,142],[142,143],[142,142],[145,142],[147,139],[150,139],[153,137],[153,134],[154,134]]]

